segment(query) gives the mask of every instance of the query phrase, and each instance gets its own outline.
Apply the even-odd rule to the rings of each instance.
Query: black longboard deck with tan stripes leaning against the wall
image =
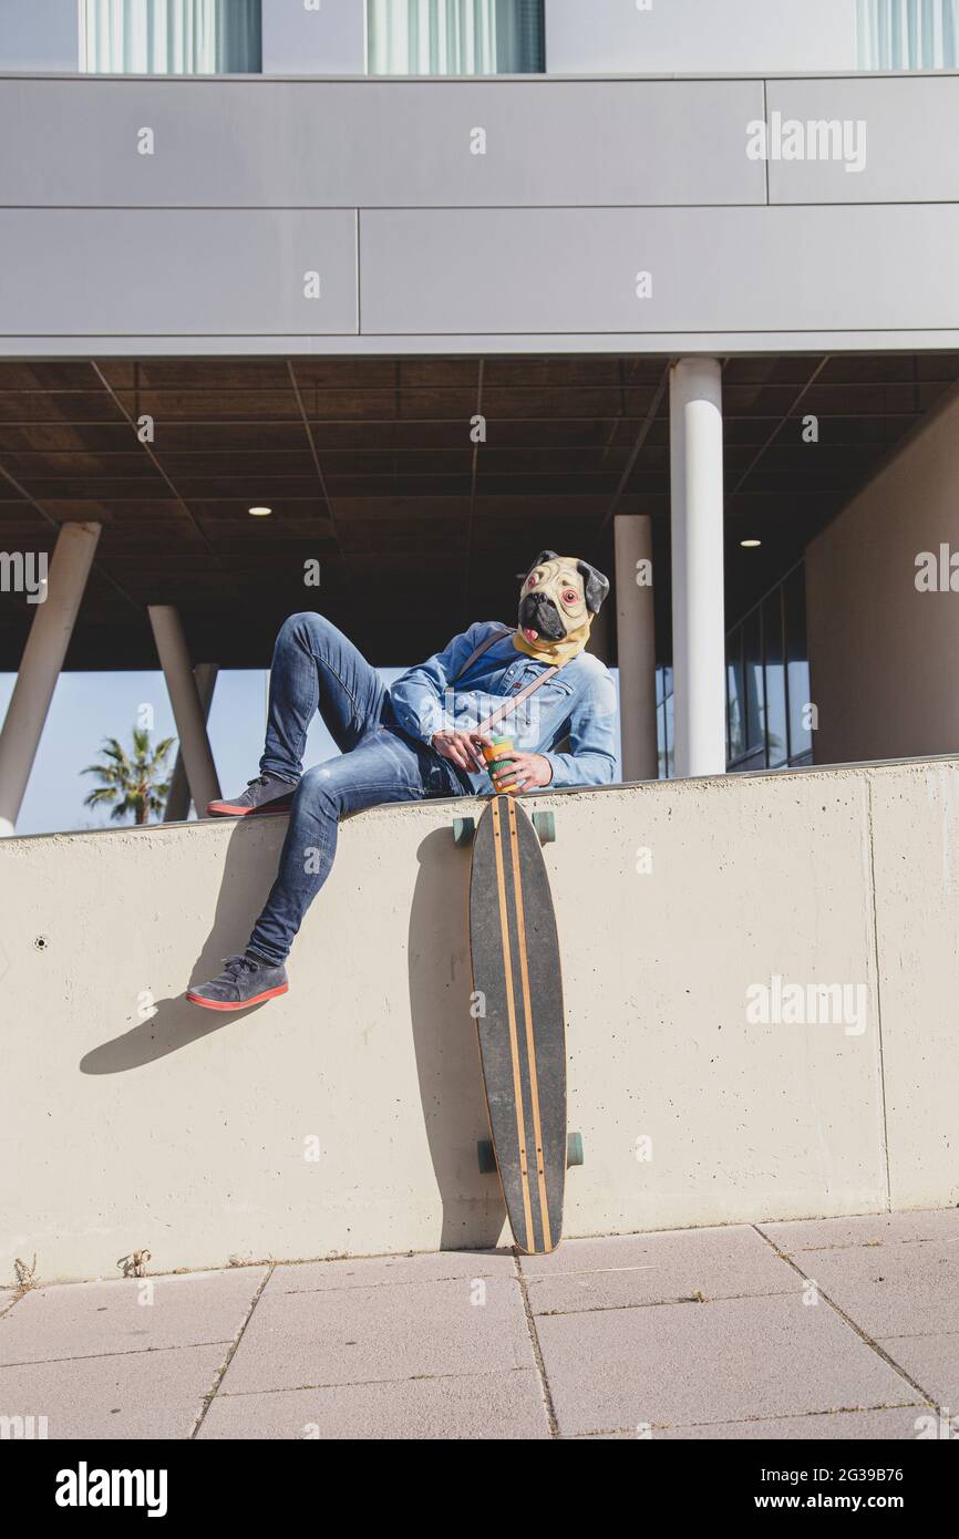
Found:
[[[469,950],[503,1200],[517,1247],[539,1254],[556,1248],[563,1224],[566,1027],[550,877],[511,796],[494,796],[476,831]]]

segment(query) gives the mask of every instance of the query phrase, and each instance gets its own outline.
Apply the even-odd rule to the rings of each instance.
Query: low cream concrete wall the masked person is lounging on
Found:
[[[502,1237],[454,805],[343,823],[291,993],[243,1017],[182,991],[243,943],[283,819],[0,845],[0,1284],[34,1253],[52,1280],[142,1247],[169,1270]],[[542,805],[568,1236],[959,1200],[959,762]],[[864,1030],[751,1023],[774,974],[862,985]]]

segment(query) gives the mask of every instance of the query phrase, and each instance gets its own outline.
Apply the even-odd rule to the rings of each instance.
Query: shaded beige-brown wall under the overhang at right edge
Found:
[[[814,451],[813,451],[814,452]],[[959,749],[959,397],[805,556],[817,763]],[[921,593],[916,557],[956,554],[956,591]]]

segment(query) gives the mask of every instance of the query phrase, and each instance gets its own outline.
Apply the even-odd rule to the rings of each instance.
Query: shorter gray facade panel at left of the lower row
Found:
[[[0,249],[8,337],[357,329],[354,212],[2,209]]]

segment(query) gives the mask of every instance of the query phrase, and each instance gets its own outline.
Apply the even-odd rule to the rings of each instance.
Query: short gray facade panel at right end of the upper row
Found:
[[[862,171],[844,160],[771,160],[771,203],[959,200],[959,75],[770,80],[767,92],[770,120],[780,112],[802,123],[805,146],[810,122],[865,125]]]

